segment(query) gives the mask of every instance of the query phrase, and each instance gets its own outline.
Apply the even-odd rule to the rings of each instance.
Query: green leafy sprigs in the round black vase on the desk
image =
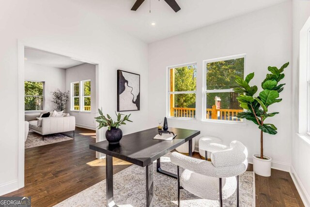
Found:
[[[98,112],[99,112],[100,116],[95,117],[96,122],[99,123],[98,129],[100,129],[102,127],[108,127],[108,129],[111,130],[111,127],[118,128],[121,125],[125,125],[126,124],[125,121],[132,122],[129,120],[129,117],[131,114],[125,115],[122,113],[116,113],[116,111],[115,111],[117,121],[113,121],[112,117],[109,114],[107,114],[106,116],[103,115],[102,109],[101,110],[98,109]],[[124,117],[122,118],[122,116],[124,116]]]

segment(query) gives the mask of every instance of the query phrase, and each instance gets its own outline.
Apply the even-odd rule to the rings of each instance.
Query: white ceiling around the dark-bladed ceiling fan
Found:
[[[108,23],[152,43],[286,0],[176,0],[181,7],[177,13],[164,0],[151,0],[151,13],[150,0],[145,0],[137,11],[131,11],[135,1],[94,0],[94,3]],[[152,26],[152,22],[156,25]]]

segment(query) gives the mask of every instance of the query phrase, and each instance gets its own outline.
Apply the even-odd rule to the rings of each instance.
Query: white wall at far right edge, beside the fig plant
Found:
[[[310,142],[309,138],[298,136],[296,133],[304,122],[299,122],[299,40],[300,30],[310,16],[310,1],[293,0],[293,134],[292,134],[292,177],[302,197],[304,204],[310,206]],[[307,83],[306,84],[307,87]],[[305,88],[307,90],[307,88]],[[304,95],[302,95],[304,96]],[[306,111],[306,109],[301,109]],[[306,124],[307,125],[307,124]]]

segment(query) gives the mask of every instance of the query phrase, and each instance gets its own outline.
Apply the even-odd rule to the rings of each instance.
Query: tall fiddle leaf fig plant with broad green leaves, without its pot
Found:
[[[254,96],[258,90],[257,86],[250,86],[249,82],[254,78],[254,73],[248,74],[243,79],[236,76],[236,82],[240,87],[234,88],[233,91],[242,95],[237,97],[240,107],[247,110],[237,114],[240,119],[247,119],[252,121],[261,130],[261,155],[263,156],[263,132],[268,134],[277,134],[277,127],[273,124],[266,123],[268,117],[275,116],[279,112],[268,112],[268,107],[274,103],[278,103],[282,100],[279,98],[279,93],[283,91],[285,83],[279,84],[280,80],[284,78],[284,69],[289,63],[283,64],[280,68],[268,67],[268,71],[271,74],[267,74],[265,80],[262,82],[263,90],[259,93],[259,96]]]

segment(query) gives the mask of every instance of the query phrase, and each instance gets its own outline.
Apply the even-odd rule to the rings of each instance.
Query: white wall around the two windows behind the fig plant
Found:
[[[269,65],[281,66],[292,61],[292,5],[290,1],[239,16],[196,31],[180,34],[149,45],[150,123],[166,115],[166,67],[197,62],[196,110],[202,111],[202,61],[246,53],[246,74],[255,72],[252,84],[260,87]],[[274,167],[289,170],[292,134],[292,66],[285,71],[283,101],[270,107],[279,115],[270,118],[278,127],[277,135],[264,134],[264,152],[273,158]],[[156,109],[156,110],[155,110]],[[247,126],[170,119],[169,125],[201,130],[201,135],[216,136],[230,143],[239,140],[249,155],[260,152],[260,130]],[[196,145],[198,143],[196,142]]]

